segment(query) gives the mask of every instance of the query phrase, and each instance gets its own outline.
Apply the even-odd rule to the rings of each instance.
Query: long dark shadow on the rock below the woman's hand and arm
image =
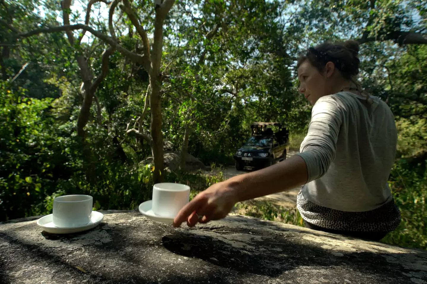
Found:
[[[371,252],[334,252],[315,244],[296,243],[290,239],[265,238],[251,240],[248,246],[229,244],[211,236],[191,233],[166,235],[162,239],[167,250],[178,255],[199,258],[219,267],[240,273],[277,277],[298,267],[319,268],[334,271],[345,269],[375,277],[406,278],[405,267],[398,262],[387,261],[387,257],[414,257],[403,254],[377,254]],[[369,263],[370,265],[366,265]],[[409,270],[408,270],[409,272]],[[396,283],[405,283],[397,281]]]

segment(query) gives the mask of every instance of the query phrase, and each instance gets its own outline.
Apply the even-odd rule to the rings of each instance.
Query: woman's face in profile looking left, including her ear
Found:
[[[298,68],[298,79],[300,81],[298,91],[304,95],[311,105],[314,105],[320,97],[330,94],[328,78],[333,73],[333,70],[329,70],[329,63],[331,62],[328,62],[325,66],[324,74],[311,65],[309,60],[305,60]]]

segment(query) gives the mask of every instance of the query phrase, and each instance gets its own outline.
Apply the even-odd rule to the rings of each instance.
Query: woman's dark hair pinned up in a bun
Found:
[[[298,58],[297,68],[308,60],[319,72],[322,72],[329,61],[341,72],[345,79],[351,80],[359,74],[360,60],[357,57],[359,44],[354,40],[338,43],[322,43],[316,47],[310,47],[307,53]]]

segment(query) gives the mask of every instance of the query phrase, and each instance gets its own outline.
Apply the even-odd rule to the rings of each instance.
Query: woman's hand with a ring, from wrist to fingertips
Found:
[[[227,181],[213,184],[200,192],[178,212],[173,221],[174,227],[179,227],[187,221],[189,227],[211,220],[222,219],[231,211],[238,201],[236,190]]]

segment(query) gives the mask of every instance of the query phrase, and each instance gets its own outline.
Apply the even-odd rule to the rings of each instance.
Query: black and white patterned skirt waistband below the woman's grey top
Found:
[[[374,210],[345,212],[317,205],[298,193],[297,209],[304,221],[333,230],[353,232],[391,232],[401,222],[394,199]]]

